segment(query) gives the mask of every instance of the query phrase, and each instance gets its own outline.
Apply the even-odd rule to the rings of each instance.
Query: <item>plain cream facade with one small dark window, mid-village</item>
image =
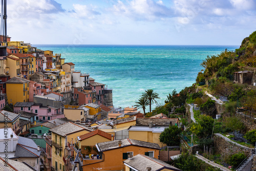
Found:
[[[83,109],[64,109],[64,116],[71,120],[85,121]]]

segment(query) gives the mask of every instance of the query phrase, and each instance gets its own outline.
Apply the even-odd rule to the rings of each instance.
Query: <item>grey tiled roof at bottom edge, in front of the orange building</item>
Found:
[[[147,170],[147,167],[151,167],[151,171],[162,170],[164,168],[181,171],[180,169],[154,157],[144,156],[141,154],[138,154],[131,159],[124,160],[123,163],[128,167],[130,166],[135,168],[136,170]]]

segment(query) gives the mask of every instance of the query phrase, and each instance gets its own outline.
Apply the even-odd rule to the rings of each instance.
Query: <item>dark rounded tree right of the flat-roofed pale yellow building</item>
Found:
[[[181,129],[176,125],[169,125],[160,134],[160,142],[167,145],[179,145],[180,144],[180,133]]]

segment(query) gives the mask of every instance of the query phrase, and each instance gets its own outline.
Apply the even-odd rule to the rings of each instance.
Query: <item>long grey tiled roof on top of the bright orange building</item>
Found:
[[[122,144],[119,146],[118,142],[121,141]],[[124,146],[142,146],[146,148],[154,148],[154,149],[160,149],[160,146],[157,143],[152,142],[145,142],[145,141],[139,141],[139,140],[133,140],[133,139],[122,139],[122,140],[114,140],[114,141],[106,141],[106,142],[100,142],[96,144],[100,152],[109,151],[111,149],[115,148],[121,148]]]

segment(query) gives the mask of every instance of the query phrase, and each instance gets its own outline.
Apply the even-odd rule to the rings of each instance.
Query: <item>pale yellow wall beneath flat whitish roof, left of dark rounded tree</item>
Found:
[[[129,138],[134,140],[157,143],[160,147],[166,144],[160,142],[159,137],[161,133],[153,133],[152,131],[129,131]]]

